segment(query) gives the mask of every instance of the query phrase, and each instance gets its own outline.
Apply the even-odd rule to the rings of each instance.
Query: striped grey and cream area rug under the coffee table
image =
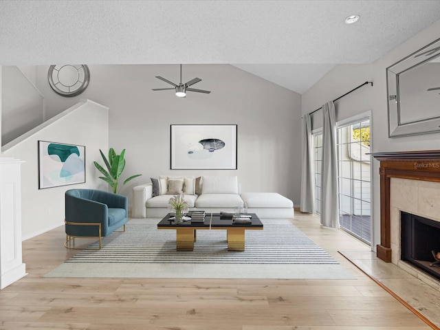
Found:
[[[157,222],[132,219],[126,232],[105,237],[101,250],[82,250],[46,276],[80,276],[80,270],[85,272],[80,277],[142,277],[137,276],[141,273],[145,277],[210,278],[229,273],[221,277],[327,278],[338,272],[343,278],[353,277],[288,220],[265,220],[263,230],[245,231],[244,252],[228,251],[225,230],[198,230],[194,251],[176,251],[175,230],[157,230]],[[90,247],[97,246],[98,242]],[[187,275],[182,274],[183,269]],[[111,270],[111,276],[99,270]],[[252,272],[257,275],[248,274]],[[313,274],[316,272],[322,275]]]

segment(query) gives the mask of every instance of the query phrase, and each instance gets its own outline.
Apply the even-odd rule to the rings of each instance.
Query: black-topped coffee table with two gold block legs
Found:
[[[175,229],[176,230],[176,250],[192,251],[194,242],[197,239],[197,230],[226,230],[228,233],[228,251],[245,250],[245,230],[263,230],[263,223],[255,213],[252,216],[251,223],[232,223],[232,217],[223,217],[220,213],[206,213],[205,221],[175,223],[171,217],[173,214],[166,214],[164,219],[157,223],[157,229]]]

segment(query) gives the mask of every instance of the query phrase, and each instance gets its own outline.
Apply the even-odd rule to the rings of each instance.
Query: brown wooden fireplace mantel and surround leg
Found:
[[[390,180],[440,182],[440,150],[372,153],[380,161],[380,244],[377,257],[391,263]]]

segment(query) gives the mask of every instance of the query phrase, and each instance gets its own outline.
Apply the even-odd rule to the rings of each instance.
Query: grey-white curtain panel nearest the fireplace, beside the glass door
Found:
[[[336,111],[333,101],[322,106],[321,223],[339,227]]]

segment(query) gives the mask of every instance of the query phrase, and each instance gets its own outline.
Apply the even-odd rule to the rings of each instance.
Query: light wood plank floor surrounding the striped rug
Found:
[[[293,222],[357,279],[44,278],[75,253],[60,227],[23,242],[29,274],[0,291],[0,329],[431,329],[338,253],[366,245],[309,214]]]

